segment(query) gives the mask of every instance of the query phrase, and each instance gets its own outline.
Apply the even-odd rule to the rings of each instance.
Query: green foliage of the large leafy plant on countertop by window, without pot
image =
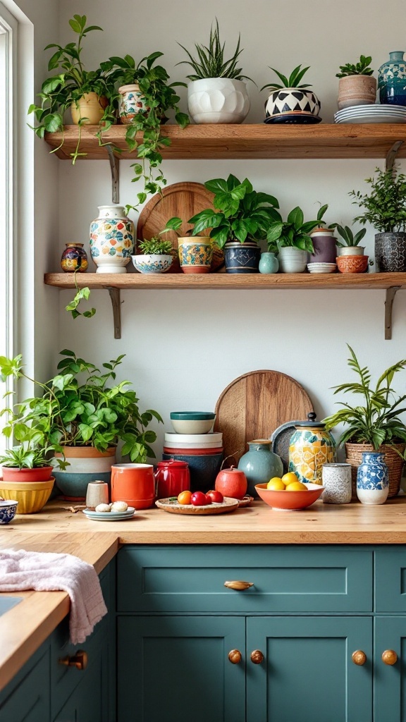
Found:
[[[17,436],[20,421],[43,432],[40,446],[51,445],[56,451],[64,446],[93,446],[105,451],[123,442],[121,453],[131,461],[144,462],[155,458],[150,444],[156,439],[147,426],[152,418],[162,422],[160,414],[148,409],[139,411],[137,394],[131,382],[116,383],[116,368],[124,355],[105,362],[100,370],[70,351],[61,352],[59,373],[47,383],[34,383],[43,396],[27,399],[17,405],[17,412],[6,427],[7,434]],[[2,378],[29,378],[22,366],[22,357],[0,357]],[[33,380],[33,379],[30,379]],[[17,434],[16,434],[17,432]],[[17,436],[18,438],[18,436]]]

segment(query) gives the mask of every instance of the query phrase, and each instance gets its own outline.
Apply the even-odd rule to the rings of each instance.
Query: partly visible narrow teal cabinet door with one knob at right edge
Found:
[[[382,652],[397,653],[397,662],[384,664]],[[375,619],[374,722],[406,722],[406,617]]]

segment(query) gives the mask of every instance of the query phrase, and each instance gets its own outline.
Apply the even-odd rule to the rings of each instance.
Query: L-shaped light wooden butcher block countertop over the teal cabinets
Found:
[[[0,528],[1,549],[74,554],[100,573],[122,544],[405,544],[406,496],[381,506],[329,505],[317,501],[300,512],[282,512],[258,500],[213,516],[181,516],[156,508],[127,521],[95,522],[68,503],[16,516]],[[3,596],[12,596],[4,593]],[[23,597],[0,617],[0,690],[69,613],[62,591],[16,592]]]

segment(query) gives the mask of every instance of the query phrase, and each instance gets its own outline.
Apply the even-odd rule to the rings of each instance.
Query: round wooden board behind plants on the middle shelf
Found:
[[[157,193],[142,209],[139,214],[137,224],[137,239],[144,240],[157,235],[170,218],[178,217],[183,220],[180,235],[185,236],[186,232],[191,229],[190,223],[187,221],[196,213],[203,211],[205,208],[213,207],[214,194],[207,191],[202,183],[192,183],[185,181],[184,183],[173,183],[163,189],[162,195]],[[208,235],[210,229],[207,229],[205,235]],[[165,240],[170,240],[172,248],[176,251],[176,261],[168,273],[181,273],[181,267],[178,262],[178,236],[174,231],[170,231],[162,236]],[[223,264],[223,251],[216,251],[213,256],[212,271]]]

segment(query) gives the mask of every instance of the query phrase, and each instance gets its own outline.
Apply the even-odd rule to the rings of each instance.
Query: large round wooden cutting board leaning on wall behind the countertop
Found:
[[[214,431],[223,432],[224,458],[233,456],[238,462],[247,442],[269,439],[278,426],[305,420],[311,411],[311,399],[294,378],[279,371],[251,371],[233,380],[220,395]]]

